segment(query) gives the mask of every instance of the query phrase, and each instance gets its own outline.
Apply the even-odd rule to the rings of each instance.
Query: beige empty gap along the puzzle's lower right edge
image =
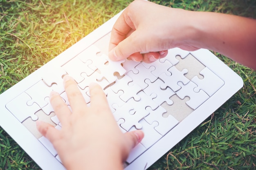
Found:
[[[172,97],[170,97],[170,99],[173,101],[173,104],[171,106],[168,105],[166,102],[161,104],[161,106],[167,110],[167,113],[164,113],[163,117],[168,117],[168,115],[172,115],[173,117],[175,117],[175,119],[177,119],[177,121],[181,122],[194,111],[186,104],[186,101],[189,101],[189,97],[185,97],[182,100],[177,95],[173,95]]]

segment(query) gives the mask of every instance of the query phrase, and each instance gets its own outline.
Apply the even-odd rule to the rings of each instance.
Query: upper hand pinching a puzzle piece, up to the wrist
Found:
[[[185,33],[178,21],[182,20],[184,14],[180,11],[185,12],[145,0],[133,1],[113,26],[109,45],[110,59],[128,57],[137,62],[143,60],[150,63],[165,57],[168,49],[183,44],[180,43],[179,34]],[[183,49],[198,48],[188,44]]]

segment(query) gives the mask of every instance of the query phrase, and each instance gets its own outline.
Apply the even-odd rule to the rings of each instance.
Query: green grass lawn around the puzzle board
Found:
[[[131,1],[0,0],[0,93],[65,51]],[[154,2],[256,18],[255,0]],[[150,170],[256,169],[256,72],[216,55],[243,78],[244,87]],[[16,169],[40,168],[0,128],[0,170]]]

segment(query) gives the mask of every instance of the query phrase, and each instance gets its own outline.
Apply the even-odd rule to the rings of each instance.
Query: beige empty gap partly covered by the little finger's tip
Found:
[[[38,120],[44,121],[48,124],[51,124],[52,126],[56,126],[54,122],[51,120],[51,117],[55,116],[55,113],[52,112],[50,115],[46,115],[43,110],[39,110],[35,113],[35,115],[38,116]],[[22,124],[37,138],[39,139],[42,137],[41,133],[36,128],[36,121],[33,121],[31,117],[27,118],[22,122]]]

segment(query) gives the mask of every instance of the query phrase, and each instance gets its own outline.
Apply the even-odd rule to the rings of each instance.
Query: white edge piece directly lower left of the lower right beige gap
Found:
[[[144,119],[149,124],[153,124],[154,121],[157,121],[158,126],[155,127],[155,130],[161,135],[165,135],[179,123],[179,121],[177,121],[177,119],[175,119],[172,115],[168,115],[168,117],[163,117],[163,114],[167,111],[162,106],[159,106],[155,110],[147,107],[146,110],[148,110],[150,114],[144,117]]]

